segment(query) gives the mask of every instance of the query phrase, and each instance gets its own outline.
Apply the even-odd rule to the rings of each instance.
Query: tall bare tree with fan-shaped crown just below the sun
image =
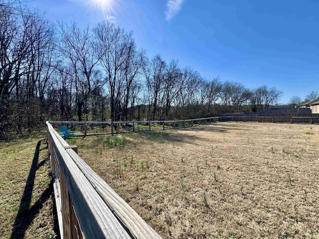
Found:
[[[129,94],[128,88],[141,62],[130,65],[132,58],[136,59],[132,32],[127,33],[123,28],[104,21],[94,28],[94,33],[95,46],[110,87],[111,119],[115,121],[121,118],[121,103],[125,98],[123,93],[126,91]]]

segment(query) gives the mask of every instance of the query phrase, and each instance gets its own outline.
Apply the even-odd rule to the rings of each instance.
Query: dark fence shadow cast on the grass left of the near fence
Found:
[[[20,201],[19,209],[14,221],[10,239],[24,238],[26,230],[28,229],[36,215],[42,209],[43,204],[50,198],[51,195],[53,195],[53,181],[51,178],[49,186],[42,192],[40,198],[30,207],[36,171],[49,160],[49,158],[45,158],[41,162],[38,162],[40,151],[47,149],[47,147],[40,149],[42,141],[45,141],[45,139],[39,140],[35,147],[31,168]],[[58,235],[56,222],[55,232]]]

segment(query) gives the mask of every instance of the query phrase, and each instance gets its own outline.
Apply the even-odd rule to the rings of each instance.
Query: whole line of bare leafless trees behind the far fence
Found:
[[[48,119],[208,117],[267,109],[281,96],[149,58],[114,23],[53,24],[26,4],[0,0],[0,139],[28,135]]]

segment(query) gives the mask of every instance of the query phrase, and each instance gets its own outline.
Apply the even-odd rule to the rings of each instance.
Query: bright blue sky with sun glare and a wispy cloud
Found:
[[[206,78],[276,87],[282,103],[319,91],[318,0],[31,0],[53,22],[111,20]]]

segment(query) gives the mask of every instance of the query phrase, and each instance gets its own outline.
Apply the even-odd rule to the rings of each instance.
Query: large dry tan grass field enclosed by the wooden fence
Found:
[[[163,238],[319,238],[319,125],[110,137],[70,143]]]

